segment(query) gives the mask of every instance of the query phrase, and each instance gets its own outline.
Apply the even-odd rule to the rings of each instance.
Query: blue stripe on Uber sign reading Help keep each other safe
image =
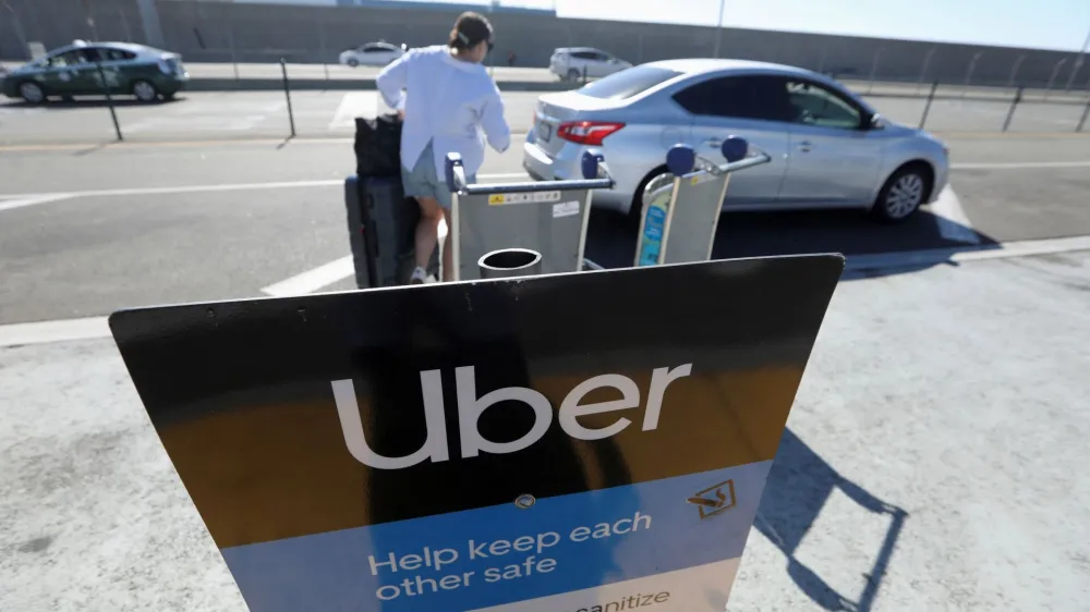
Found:
[[[543,499],[529,510],[512,500],[222,553],[253,612],[487,608],[741,556],[771,465]],[[687,500],[728,479],[735,506],[701,518],[701,507],[716,510],[715,491],[702,495],[713,505]],[[730,487],[720,490],[729,495]]]

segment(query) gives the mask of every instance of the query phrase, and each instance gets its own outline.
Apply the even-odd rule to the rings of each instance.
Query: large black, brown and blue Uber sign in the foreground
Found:
[[[125,310],[254,612],[720,611],[839,256]]]

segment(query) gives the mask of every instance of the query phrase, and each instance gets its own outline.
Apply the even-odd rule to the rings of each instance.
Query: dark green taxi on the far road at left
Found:
[[[190,78],[178,53],[129,42],[76,40],[9,72],[0,91],[32,105],[50,97],[101,96],[104,76],[111,95],[142,102],[170,99]]]

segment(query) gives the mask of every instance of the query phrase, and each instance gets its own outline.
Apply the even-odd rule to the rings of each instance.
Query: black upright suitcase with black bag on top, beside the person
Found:
[[[356,118],[356,175],[344,181],[349,243],[360,289],[405,284],[415,268],[420,208],[401,186],[401,123],[396,115]],[[438,248],[428,273],[438,278]]]

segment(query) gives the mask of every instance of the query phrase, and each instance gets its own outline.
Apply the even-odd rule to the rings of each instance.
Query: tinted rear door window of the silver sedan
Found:
[[[760,121],[786,121],[782,82],[772,76],[726,76],[692,85],[674,95],[693,114]]]

